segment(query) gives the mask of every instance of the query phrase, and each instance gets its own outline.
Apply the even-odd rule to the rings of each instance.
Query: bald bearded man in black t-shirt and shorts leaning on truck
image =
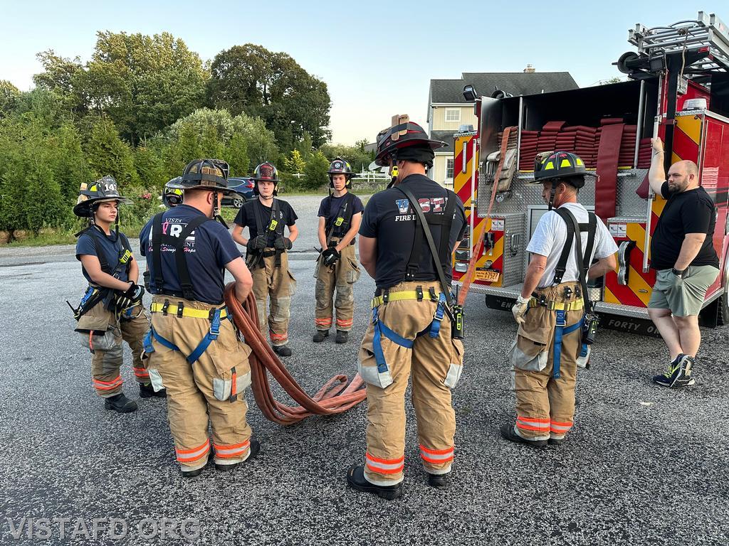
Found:
[[[648,173],[651,189],[666,202],[650,243],[650,266],[656,270],[648,314],[668,346],[671,364],[653,377],[656,384],[677,389],[693,385],[691,371],[701,344],[698,313],[706,290],[719,274],[712,245],[714,202],[699,186],[698,167],[679,161],[663,170],[663,143],[653,139]]]

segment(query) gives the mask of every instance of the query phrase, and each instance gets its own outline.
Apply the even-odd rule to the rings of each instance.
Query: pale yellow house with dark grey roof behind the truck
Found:
[[[464,85],[475,87],[479,95],[491,96],[494,90],[510,95],[577,89],[569,72],[537,72],[527,65],[523,72],[464,72],[459,79],[432,79],[428,96],[428,132],[431,138],[448,146],[435,151],[429,176],[437,183],[453,184],[453,135],[461,125],[476,128],[473,103],[463,96]]]

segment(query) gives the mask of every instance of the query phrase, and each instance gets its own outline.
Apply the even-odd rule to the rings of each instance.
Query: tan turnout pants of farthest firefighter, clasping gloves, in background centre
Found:
[[[331,242],[337,244],[338,239]],[[348,332],[352,329],[354,315],[354,283],[359,280],[361,271],[354,254],[354,245],[342,249],[341,257],[334,267],[321,264],[321,257],[316,262],[316,310],[317,330],[329,330],[332,327],[332,311],[336,309],[337,330]],[[337,296],[334,297],[334,293]],[[332,305],[332,299],[334,304]]]

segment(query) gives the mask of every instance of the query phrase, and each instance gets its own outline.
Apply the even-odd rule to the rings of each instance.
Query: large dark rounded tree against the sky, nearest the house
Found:
[[[330,137],[327,84],[286,53],[254,44],[219,52],[211,64],[207,87],[211,106],[260,117],[282,149],[293,149],[305,132],[315,147]]]

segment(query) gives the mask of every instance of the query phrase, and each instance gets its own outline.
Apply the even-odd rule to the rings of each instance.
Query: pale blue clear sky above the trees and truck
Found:
[[[529,63],[539,72],[569,71],[587,87],[621,76],[612,63],[634,50],[627,38],[636,23],[668,25],[701,9],[729,22],[725,0],[711,3],[0,0],[0,79],[31,89],[41,71],[36,53],[86,61],[97,31],[168,31],[203,60],[260,44],[327,83],[332,142],[372,142],[393,114],[426,125],[430,79],[520,72]]]

